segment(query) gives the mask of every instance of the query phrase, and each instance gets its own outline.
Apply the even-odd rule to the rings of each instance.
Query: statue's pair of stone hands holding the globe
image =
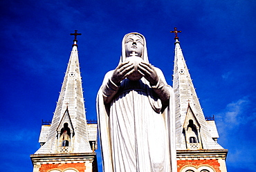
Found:
[[[118,67],[113,71],[113,75],[111,80],[116,85],[120,85],[120,82],[129,76],[131,73],[134,73],[134,64],[129,61],[122,62],[118,65]],[[158,82],[158,75],[154,66],[151,64],[147,64],[145,62],[140,62],[138,64],[138,72],[147,79],[147,81],[152,85],[155,86]]]

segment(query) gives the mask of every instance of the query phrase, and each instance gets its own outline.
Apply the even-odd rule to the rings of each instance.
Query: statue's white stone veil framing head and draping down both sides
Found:
[[[144,41],[144,47],[143,47],[143,54],[142,58],[146,63],[149,63],[148,57],[147,57],[147,45],[146,40],[143,35],[141,35],[138,32],[131,32],[122,39],[122,55],[120,57],[119,63],[122,63],[126,59],[125,55],[125,39],[129,35],[139,35],[143,38]],[[158,69],[160,70],[160,69]],[[113,70],[109,71],[105,77],[103,84],[106,84],[106,82],[109,80],[113,73]],[[163,73],[161,72],[161,75]],[[164,79],[164,76],[163,76]],[[103,86],[102,84],[102,86]],[[169,149],[170,149],[170,171],[176,172],[177,166],[176,166],[176,142],[175,142],[175,100],[174,100],[174,91],[170,87],[170,104],[165,108],[165,111],[163,112],[163,116],[165,117],[165,125],[167,126],[167,135],[169,140]],[[98,127],[99,127],[99,136],[100,136],[100,148],[102,149],[102,167],[104,172],[113,172],[113,166],[112,166],[112,155],[111,155],[111,142],[109,140],[109,106],[104,104],[103,100],[103,94],[102,94],[102,87],[100,88],[98,95],[97,95],[97,116],[98,116]]]

